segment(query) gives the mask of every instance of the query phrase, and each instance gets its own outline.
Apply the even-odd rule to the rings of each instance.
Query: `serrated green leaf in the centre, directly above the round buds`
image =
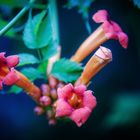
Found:
[[[83,68],[68,59],[60,59],[54,63],[51,74],[64,82],[74,82],[80,76]]]

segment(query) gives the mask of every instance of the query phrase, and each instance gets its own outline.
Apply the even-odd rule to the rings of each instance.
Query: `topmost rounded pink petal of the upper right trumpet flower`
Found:
[[[96,23],[103,23],[108,20],[108,12],[106,10],[99,10],[93,15],[92,19]]]

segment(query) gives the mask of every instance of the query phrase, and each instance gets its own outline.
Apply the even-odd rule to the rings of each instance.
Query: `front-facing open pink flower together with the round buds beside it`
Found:
[[[97,103],[92,91],[86,90],[86,88],[85,85],[67,84],[58,87],[56,92],[49,85],[43,84],[40,104],[46,109],[37,106],[34,112],[37,115],[46,113],[49,124],[55,124],[59,117],[68,117],[80,127],[87,121]]]

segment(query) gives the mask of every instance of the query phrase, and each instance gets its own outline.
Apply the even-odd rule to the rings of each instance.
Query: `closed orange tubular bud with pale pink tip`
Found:
[[[105,47],[100,47],[86,64],[81,77],[75,85],[87,85],[91,78],[112,60],[112,53]]]

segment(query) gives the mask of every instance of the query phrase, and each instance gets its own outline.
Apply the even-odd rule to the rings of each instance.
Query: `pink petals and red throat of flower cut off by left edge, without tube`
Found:
[[[19,63],[17,55],[5,57],[5,53],[0,53],[0,90],[2,85],[12,85],[19,80],[14,67]]]

